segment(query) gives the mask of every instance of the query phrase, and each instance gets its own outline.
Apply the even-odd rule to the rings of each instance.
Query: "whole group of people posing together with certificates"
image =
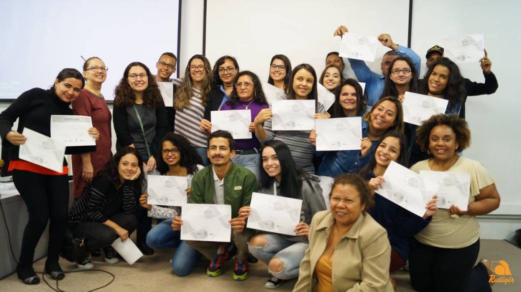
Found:
[[[334,35],[347,31],[340,26]],[[51,89],[24,92],[0,114],[8,169],[29,211],[16,269],[20,280],[40,282],[32,259],[50,219],[45,272],[56,280],[65,277],[58,257],[67,229],[85,238],[89,250],[77,263],[80,269],[92,269],[91,257],[101,250],[105,262],[118,262],[110,244],[118,237],[128,240],[135,230],[144,255],[177,247],[171,262],[178,276],[189,274],[201,255],[210,261],[207,275],[219,276],[224,263],[235,257],[234,280],[245,280],[249,263],[259,259],[272,275],[267,288],[298,278],[296,291],[392,291],[389,273],[408,261],[418,291],[489,291],[487,267],[474,266],[476,216],[498,208],[500,196],[490,172],[461,152],[470,145],[464,120],[467,96],[492,94],[498,87],[491,61],[486,52],[480,60],[485,84],[471,82],[443,57],[443,48],[433,46],[426,54],[427,73],[419,79],[420,58],[413,50],[393,43],[388,34],[378,39],[391,49],[382,58],[382,75],[361,60],[348,59],[358,81],[366,83],[365,92],[358,81],[344,78],[346,64],[338,52],[327,54],[319,77],[309,64],[292,68],[284,55],[275,55],[269,64],[268,84],[286,99],[314,100],[314,118],[362,117],[361,150],[317,151],[320,132],[273,130],[261,80],[240,71],[231,56],[219,58],[212,68],[206,57],[194,55],[183,78],[171,78],[177,58],[170,52],[159,57],[155,75],[145,64],[132,62],[114,90],[112,114],[101,92],[108,68],[97,57],[85,60],[83,73],[62,70]],[[157,82],[173,83],[173,104],[164,103]],[[329,109],[318,101],[317,83],[335,95]],[[446,99],[448,108],[420,126],[406,124],[406,91]],[[244,109],[251,110],[252,138],[212,132],[212,111]],[[53,114],[91,116],[89,133],[96,139],[95,151],[66,149],[73,154],[75,204],[70,211],[67,162],[57,172],[18,157],[19,145],[26,141],[23,129],[50,136]],[[11,130],[17,119],[17,130]],[[419,217],[376,194],[393,161],[415,172],[468,173],[467,210],[438,209],[435,195]],[[146,175],[154,172],[187,177],[189,203],[230,205],[231,242],[182,241],[182,207],[147,202]],[[331,185],[322,183],[326,177],[334,178]],[[324,191],[329,195],[323,196]],[[246,228],[252,192],[302,200],[295,235]],[[153,228],[152,218],[157,219]]]

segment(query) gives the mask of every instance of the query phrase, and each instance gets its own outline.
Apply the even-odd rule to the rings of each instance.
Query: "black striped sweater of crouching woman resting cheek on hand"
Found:
[[[125,181],[117,190],[106,175],[99,175],[92,183],[83,189],[80,199],[69,212],[69,223],[107,221],[110,216],[104,214],[104,209],[116,198],[122,195],[122,212],[134,213],[138,203],[135,194],[135,181]],[[139,189],[138,189],[139,190]]]

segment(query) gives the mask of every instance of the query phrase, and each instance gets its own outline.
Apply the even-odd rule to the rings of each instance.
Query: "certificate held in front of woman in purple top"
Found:
[[[252,110],[212,111],[212,132],[227,130],[233,139],[251,139]]]

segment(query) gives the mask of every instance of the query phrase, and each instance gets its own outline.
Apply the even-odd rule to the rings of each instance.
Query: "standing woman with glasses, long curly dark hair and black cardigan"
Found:
[[[146,164],[146,171],[156,168],[160,142],[167,131],[165,104],[154,76],[145,64],[130,63],[114,92],[114,130],[116,148],[134,147]],[[156,155],[157,156],[157,155]],[[152,228],[152,219],[146,217],[146,209],[138,208],[138,247],[144,255],[154,250],[146,246],[146,233]]]

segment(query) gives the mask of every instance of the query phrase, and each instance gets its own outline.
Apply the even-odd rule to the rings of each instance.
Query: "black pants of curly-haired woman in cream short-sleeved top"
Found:
[[[490,291],[487,269],[482,264],[474,267],[478,253],[479,240],[463,248],[440,248],[413,238],[409,257],[413,288],[420,292]]]

